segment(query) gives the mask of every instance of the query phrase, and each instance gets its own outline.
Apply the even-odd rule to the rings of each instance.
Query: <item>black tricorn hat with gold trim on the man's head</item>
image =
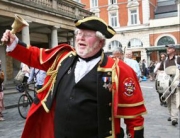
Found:
[[[112,38],[116,31],[104,20],[96,16],[85,17],[81,20],[74,21],[75,26],[79,29],[87,29],[101,32],[106,38]]]

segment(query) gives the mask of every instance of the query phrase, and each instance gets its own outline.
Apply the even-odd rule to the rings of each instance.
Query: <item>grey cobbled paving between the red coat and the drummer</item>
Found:
[[[145,138],[180,138],[180,127],[167,121],[167,107],[159,104],[154,82],[141,82],[148,114],[145,116]]]

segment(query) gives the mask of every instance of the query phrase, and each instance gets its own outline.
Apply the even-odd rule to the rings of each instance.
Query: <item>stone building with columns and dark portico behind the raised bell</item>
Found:
[[[1,0],[0,36],[11,25],[15,15],[26,20],[29,26],[16,35],[27,44],[52,48],[59,43],[74,44],[74,20],[92,15],[85,5],[72,0]],[[13,81],[20,69],[20,62],[6,55],[6,47],[0,46],[0,59],[5,71],[5,83]]]

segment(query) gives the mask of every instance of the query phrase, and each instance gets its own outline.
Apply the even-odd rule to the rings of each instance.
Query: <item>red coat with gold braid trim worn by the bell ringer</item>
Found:
[[[61,62],[69,56],[76,56],[72,47],[66,44],[59,45],[53,49],[45,50],[37,47],[17,47],[8,53],[13,58],[25,64],[47,71],[47,77],[42,89],[38,91],[38,98],[41,102],[33,104],[25,123],[22,138],[54,138],[54,107],[46,105],[47,97],[50,96],[56,81],[58,68]],[[104,54],[102,61],[104,61]],[[105,63],[105,64],[104,64]],[[98,67],[98,71],[112,72],[112,85],[108,86],[112,91],[112,134],[111,138],[116,138],[115,134],[120,132],[120,119],[124,118],[128,132],[134,137],[136,130],[142,130],[146,113],[144,99],[135,72],[122,61],[114,61],[108,57],[103,66]]]

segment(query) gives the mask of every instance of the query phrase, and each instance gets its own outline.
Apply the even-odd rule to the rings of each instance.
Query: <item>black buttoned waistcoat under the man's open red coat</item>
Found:
[[[97,67],[76,84],[74,66],[58,85],[55,138],[98,138]]]

